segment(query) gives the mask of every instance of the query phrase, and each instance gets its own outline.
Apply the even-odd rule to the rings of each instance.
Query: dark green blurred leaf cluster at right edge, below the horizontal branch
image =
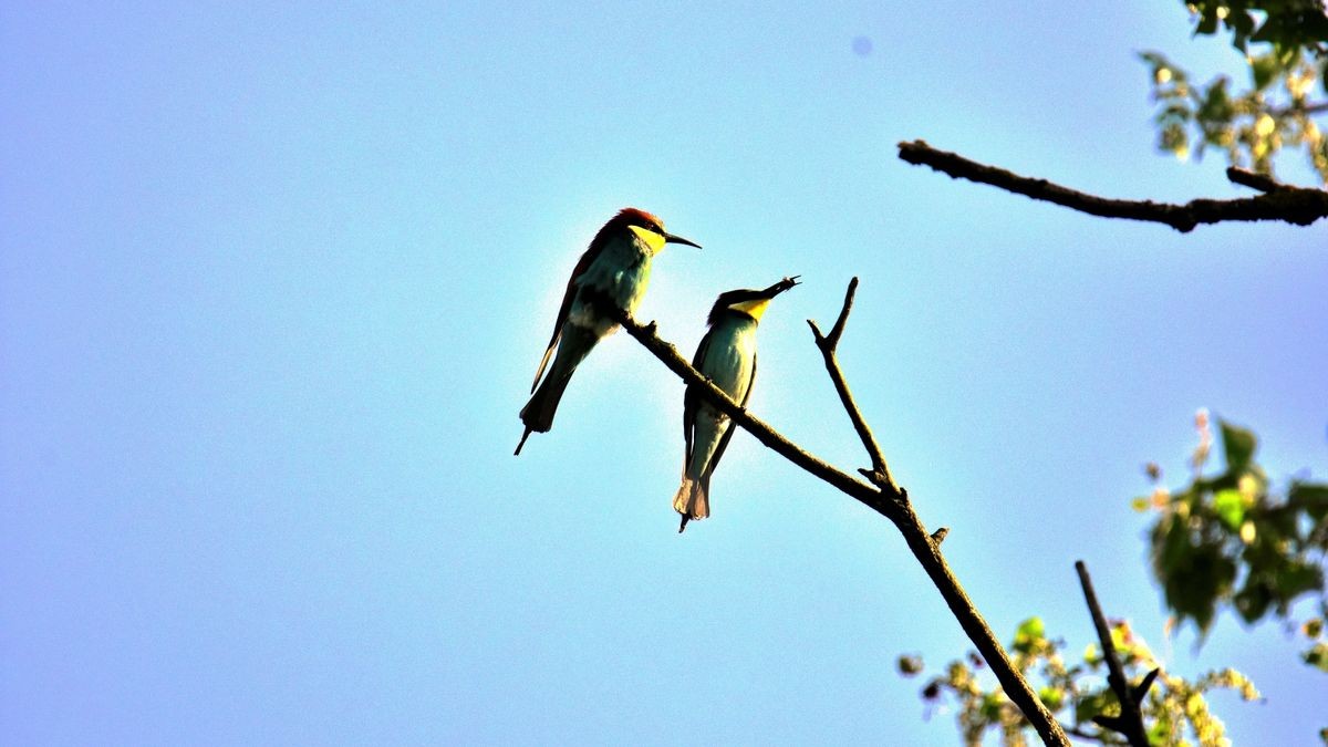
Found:
[[[1199,444],[1190,484],[1170,490],[1150,464],[1153,494],[1134,498],[1157,513],[1149,530],[1153,573],[1177,623],[1194,621],[1201,639],[1230,606],[1246,623],[1268,615],[1291,622],[1291,606],[1317,598],[1317,614],[1300,629],[1307,663],[1328,671],[1324,641],[1324,557],[1328,553],[1328,484],[1293,480],[1276,494],[1255,463],[1255,435],[1219,421],[1224,468],[1204,475],[1214,436],[1207,411],[1195,416]]]

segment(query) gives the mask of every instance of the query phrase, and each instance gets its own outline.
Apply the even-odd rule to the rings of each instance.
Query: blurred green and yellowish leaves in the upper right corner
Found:
[[[1274,174],[1283,149],[1301,150],[1328,183],[1328,13],[1323,0],[1210,0],[1187,3],[1194,33],[1231,33],[1250,74],[1248,88],[1227,76],[1198,84],[1159,52],[1149,66],[1158,150],[1201,160],[1212,146],[1232,166]],[[1258,52],[1251,44],[1259,45]],[[1316,121],[1319,120],[1319,121]]]

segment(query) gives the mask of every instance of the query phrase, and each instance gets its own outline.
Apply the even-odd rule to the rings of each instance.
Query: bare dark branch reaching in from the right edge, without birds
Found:
[[[1183,233],[1201,223],[1223,221],[1284,221],[1308,226],[1328,217],[1328,191],[1280,185],[1275,191],[1236,199],[1191,199],[1170,205],[1149,199],[1112,199],[1073,190],[1046,179],[1021,177],[1013,171],[969,161],[956,153],[938,150],[924,141],[899,144],[899,158],[914,165],[931,166],[952,178],[992,185],[1033,199],[1054,202],[1102,218],[1126,218],[1165,223]],[[1243,183],[1243,182],[1240,182]]]

